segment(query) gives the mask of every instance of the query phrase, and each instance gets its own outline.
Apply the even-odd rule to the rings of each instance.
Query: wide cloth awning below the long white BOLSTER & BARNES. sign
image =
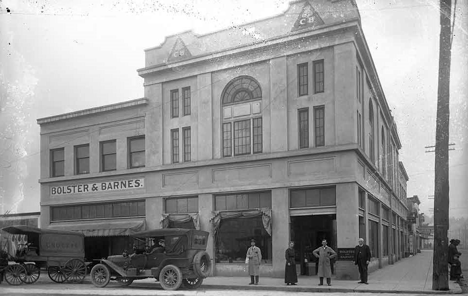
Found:
[[[137,221],[94,221],[94,224],[60,224],[51,225],[48,228],[79,231],[85,236],[128,236],[146,230],[146,221],[144,219]]]

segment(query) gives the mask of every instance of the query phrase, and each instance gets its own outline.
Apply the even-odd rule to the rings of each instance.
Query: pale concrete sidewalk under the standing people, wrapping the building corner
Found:
[[[356,267],[356,273],[357,273]],[[335,280],[332,286],[318,286],[318,277],[301,276],[296,286],[286,286],[283,279],[262,278],[259,285],[248,285],[250,278],[210,277],[203,281],[200,289],[216,290],[262,290],[290,292],[367,292],[367,293],[404,293],[404,294],[461,294],[462,289],[449,281],[449,291],[432,291],[432,251],[422,251],[416,256],[405,258],[388,265],[369,275],[369,284],[358,284],[355,280]],[[41,274],[38,284],[52,282],[46,272]],[[111,282],[112,283],[112,282]],[[115,283],[115,282],[114,282]],[[84,284],[91,284],[89,275]],[[112,284],[113,285],[113,284]],[[154,279],[135,280],[131,286],[158,287]]]

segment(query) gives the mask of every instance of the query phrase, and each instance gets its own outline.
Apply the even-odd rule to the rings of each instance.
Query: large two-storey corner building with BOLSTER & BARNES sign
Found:
[[[245,275],[251,238],[262,276],[283,276],[290,240],[305,275],[323,238],[339,279],[357,277],[358,237],[371,271],[404,257],[401,143],[354,0],[291,2],[145,54],[144,98],[38,120],[43,227],[85,233],[88,259],[135,231],[200,228],[216,276]]]

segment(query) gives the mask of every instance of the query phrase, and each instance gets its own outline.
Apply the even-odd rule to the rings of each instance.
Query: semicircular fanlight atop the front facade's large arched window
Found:
[[[221,99],[223,105],[240,103],[262,98],[262,89],[257,80],[250,76],[239,76],[224,88]]]

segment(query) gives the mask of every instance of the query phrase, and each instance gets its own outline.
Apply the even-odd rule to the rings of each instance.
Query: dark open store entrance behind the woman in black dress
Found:
[[[326,239],[328,245],[337,251],[337,215],[291,216],[291,241],[296,250],[296,264],[300,265],[300,274],[315,276],[318,260],[312,252]],[[333,262],[332,262],[332,273]]]

